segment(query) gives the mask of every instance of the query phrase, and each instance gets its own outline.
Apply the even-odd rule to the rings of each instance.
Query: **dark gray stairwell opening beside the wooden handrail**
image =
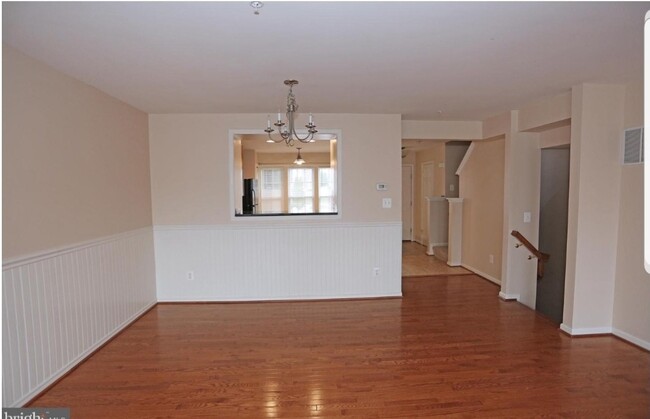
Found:
[[[569,209],[569,147],[541,151],[539,249],[551,255],[537,281],[535,310],[557,324],[564,311],[566,234]]]

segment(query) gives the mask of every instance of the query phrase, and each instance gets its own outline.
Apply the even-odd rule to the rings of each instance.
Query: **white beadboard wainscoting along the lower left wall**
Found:
[[[20,407],[156,303],[152,228],[5,261],[2,400]]]

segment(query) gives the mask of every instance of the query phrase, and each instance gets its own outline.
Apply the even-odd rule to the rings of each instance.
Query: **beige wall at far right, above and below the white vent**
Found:
[[[626,86],[625,128],[643,125],[643,83]],[[650,345],[650,275],[643,268],[643,164],[623,166],[613,325]],[[637,342],[639,343],[639,342]]]

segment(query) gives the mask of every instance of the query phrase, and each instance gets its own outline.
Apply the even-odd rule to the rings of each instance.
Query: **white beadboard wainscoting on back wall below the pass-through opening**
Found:
[[[401,233],[401,223],[155,226],[158,301],[400,296]]]

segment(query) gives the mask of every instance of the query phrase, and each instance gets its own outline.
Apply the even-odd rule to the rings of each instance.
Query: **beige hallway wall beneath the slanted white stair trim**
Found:
[[[498,280],[501,279],[504,150],[503,139],[476,141],[460,172],[462,263]]]

